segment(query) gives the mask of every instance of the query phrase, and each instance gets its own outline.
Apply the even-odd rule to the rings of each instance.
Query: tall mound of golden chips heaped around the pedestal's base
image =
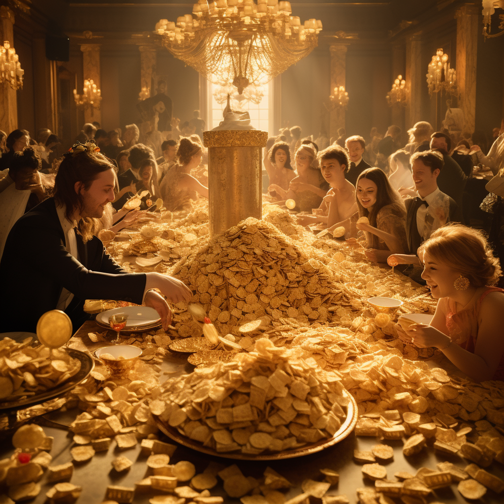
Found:
[[[306,324],[330,319],[328,307],[341,299],[332,272],[307,257],[294,241],[264,221],[248,218],[212,238],[177,263],[172,274],[196,291],[221,332],[261,319],[292,318]],[[192,320],[178,328],[193,335]]]

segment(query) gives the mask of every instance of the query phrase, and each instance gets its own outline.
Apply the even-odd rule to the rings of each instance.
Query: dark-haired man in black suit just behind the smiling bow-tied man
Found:
[[[436,132],[430,137],[430,149],[443,154],[445,162],[443,170],[437,178],[437,185],[443,193],[453,198],[459,208],[462,209],[462,194],[466,186],[467,177],[455,159],[448,154],[451,146],[452,139],[446,133]],[[463,223],[463,220],[460,222]]]

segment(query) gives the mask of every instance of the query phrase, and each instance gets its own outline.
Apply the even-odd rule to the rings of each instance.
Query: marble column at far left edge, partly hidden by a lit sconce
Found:
[[[14,13],[6,6],[0,7],[0,43],[4,40],[14,47]],[[23,68],[23,61],[21,61]],[[18,128],[18,102],[16,90],[6,82],[0,84],[0,130],[8,135]]]

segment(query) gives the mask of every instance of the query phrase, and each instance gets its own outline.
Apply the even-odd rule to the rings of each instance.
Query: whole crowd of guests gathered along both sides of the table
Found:
[[[55,307],[80,323],[86,298],[144,302],[166,326],[170,312],[159,291],[174,302],[190,297],[170,277],[124,272],[99,237],[149,209],[176,211],[208,198],[199,176],[208,154],[197,112],[180,129],[174,119],[171,138],[157,152],[148,140],[139,143],[135,124],[124,134],[85,124],[64,154],[49,130],[35,140],[25,130],[0,132],[0,276],[14,274],[19,283],[30,250],[44,249],[31,272],[38,307],[27,330]],[[440,299],[431,325],[401,331],[402,338],[437,346],[478,380],[504,379],[504,342],[494,334],[504,323],[504,291],[494,287],[503,285],[504,121],[491,146],[484,135],[454,138],[425,121],[406,139],[391,125],[383,136],[373,128],[367,140],[340,129],[331,141],[313,141],[296,126],[270,138],[264,154],[272,203],[293,200],[300,225],[362,246],[368,260],[400,269]],[[130,211],[125,204],[134,197],[140,203]],[[44,285],[48,295],[35,301]],[[16,296],[6,296],[0,302],[15,311]]]

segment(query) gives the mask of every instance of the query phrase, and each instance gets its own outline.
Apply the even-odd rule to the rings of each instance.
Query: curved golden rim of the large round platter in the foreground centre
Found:
[[[246,455],[239,452],[225,452],[220,453],[210,448],[204,447],[201,443],[190,439],[186,436],[181,435],[177,429],[164,424],[159,417],[153,415],[156,425],[159,430],[166,434],[170,439],[173,439],[178,444],[196,450],[200,453],[205,453],[207,455],[212,455],[214,457],[221,457],[224,459],[235,459],[235,460],[282,460],[282,459],[293,459],[295,457],[304,457],[305,455],[311,455],[312,453],[321,452],[330,446],[336,445],[345,437],[347,437],[357,424],[357,403],[355,399],[348,394],[349,403],[347,406],[347,417],[345,421],[341,424],[339,430],[331,438],[321,439],[318,443],[312,443],[311,445],[305,445],[294,450],[286,450],[284,452],[270,453],[267,455]]]

